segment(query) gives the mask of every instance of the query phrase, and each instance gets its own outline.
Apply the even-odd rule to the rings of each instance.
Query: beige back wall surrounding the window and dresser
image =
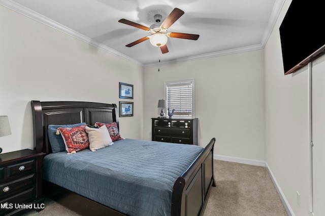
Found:
[[[151,139],[164,82],[195,80],[199,144],[216,138],[218,155],[265,160],[263,50],[144,70],[144,139]]]

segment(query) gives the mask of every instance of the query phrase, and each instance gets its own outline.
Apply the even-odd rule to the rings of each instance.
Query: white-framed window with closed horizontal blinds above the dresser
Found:
[[[194,79],[165,82],[165,98],[174,116],[194,117]]]

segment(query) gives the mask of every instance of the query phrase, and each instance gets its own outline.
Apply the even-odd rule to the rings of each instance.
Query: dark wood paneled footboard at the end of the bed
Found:
[[[201,215],[211,186],[213,174],[213,147],[215,138],[191,166],[177,179],[173,187],[172,216]]]

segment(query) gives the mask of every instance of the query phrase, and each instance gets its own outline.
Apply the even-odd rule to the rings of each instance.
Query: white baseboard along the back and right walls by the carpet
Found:
[[[252,159],[247,159],[247,158],[230,157],[230,156],[224,156],[224,155],[218,155],[218,154],[214,154],[213,158],[216,160],[224,160],[224,161],[243,163],[243,164],[254,165],[254,166],[265,166],[269,172],[269,175],[271,177],[273,185],[279,194],[279,197],[283,203],[283,206],[284,206],[288,216],[295,216],[293,209],[290,207],[287,199],[285,198],[285,196],[284,196],[279,184],[277,183],[267,162],[262,161],[262,160],[252,160]]]

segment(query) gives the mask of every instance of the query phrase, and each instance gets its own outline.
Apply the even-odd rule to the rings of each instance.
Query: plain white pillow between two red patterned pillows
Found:
[[[103,125],[100,128],[91,128],[86,126],[86,133],[88,134],[90,151],[96,151],[113,144],[106,125]]]

